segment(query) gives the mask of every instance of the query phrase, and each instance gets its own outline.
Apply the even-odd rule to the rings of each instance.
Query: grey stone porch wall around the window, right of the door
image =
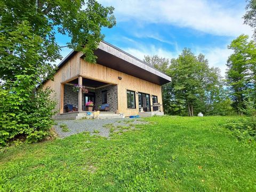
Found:
[[[102,105],[102,91],[107,91],[107,103],[109,104],[109,110],[115,112],[117,107],[117,85],[108,85],[100,89],[95,90],[95,106]]]

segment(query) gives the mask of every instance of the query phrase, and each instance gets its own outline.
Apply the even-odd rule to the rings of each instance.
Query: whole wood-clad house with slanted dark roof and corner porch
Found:
[[[86,114],[89,101],[92,110],[109,106],[109,113],[125,116],[163,115],[161,85],[171,77],[107,42],[94,54],[97,63],[89,63],[82,52],[72,51],[59,63],[54,81],[44,82],[55,92],[57,116]]]

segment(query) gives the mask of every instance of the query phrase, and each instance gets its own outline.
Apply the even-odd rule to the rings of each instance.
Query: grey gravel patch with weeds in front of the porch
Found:
[[[109,137],[111,132],[119,130],[127,131],[135,129],[136,124],[148,124],[143,119],[130,119],[130,118],[112,118],[112,119],[79,119],[79,120],[61,120],[56,121],[57,125],[54,126],[55,131],[60,138],[69,137],[70,135],[90,132],[91,135],[98,134],[102,137]],[[61,125],[67,125],[68,132],[63,132]],[[127,128],[126,128],[127,127]]]

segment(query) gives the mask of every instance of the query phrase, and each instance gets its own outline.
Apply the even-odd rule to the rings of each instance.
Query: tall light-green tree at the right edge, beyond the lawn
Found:
[[[249,41],[249,36],[240,35],[228,46],[234,51],[227,61],[227,84],[230,90],[233,107],[237,113],[244,108],[244,99],[247,94],[255,97],[255,66],[256,47],[254,41]]]

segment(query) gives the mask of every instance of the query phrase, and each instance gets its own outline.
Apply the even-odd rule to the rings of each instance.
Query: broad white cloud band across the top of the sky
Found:
[[[100,0],[100,3],[115,7],[117,22],[165,23],[213,35],[252,34],[251,28],[243,25],[245,9],[241,6],[227,8],[206,0]]]

